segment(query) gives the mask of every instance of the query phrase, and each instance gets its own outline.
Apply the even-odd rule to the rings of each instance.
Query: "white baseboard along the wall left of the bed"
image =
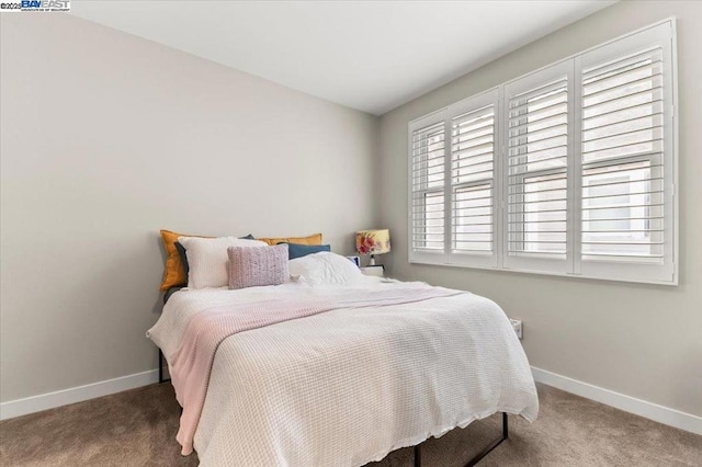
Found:
[[[0,403],[0,420],[13,419],[27,413],[69,403],[82,402],[97,397],[109,396],[127,389],[138,388],[158,381],[158,369],[122,376],[120,378],[92,383],[86,386],[57,390],[56,392],[42,394],[25,399],[10,400]]]

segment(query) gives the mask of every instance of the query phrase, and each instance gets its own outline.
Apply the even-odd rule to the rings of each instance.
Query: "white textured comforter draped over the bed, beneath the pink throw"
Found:
[[[393,286],[369,277],[356,287]],[[172,355],[202,310],[291,289],[333,287],[182,291],[148,335]],[[533,421],[536,389],[503,311],[466,293],[337,309],[226,339],[194,447],[203,466],[362,466],[497,411]]]

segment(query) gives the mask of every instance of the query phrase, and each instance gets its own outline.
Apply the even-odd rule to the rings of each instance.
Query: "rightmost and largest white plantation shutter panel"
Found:
[[[672,281],[671,27],[579,57],[580,273]]]

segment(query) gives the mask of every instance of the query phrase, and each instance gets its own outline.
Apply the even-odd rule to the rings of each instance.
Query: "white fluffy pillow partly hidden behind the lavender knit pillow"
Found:
[[[190,272],[188,288],[225,287],[229,285],[229,247],[267,247],[259,240],[247,240],[236,237],[197,238],[180,237],[180,244],[185,248]]]

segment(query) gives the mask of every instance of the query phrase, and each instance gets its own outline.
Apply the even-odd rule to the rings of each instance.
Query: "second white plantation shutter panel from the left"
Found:
[[[495,152],[498,90],[449,107],[451,263],[497,266]]]

